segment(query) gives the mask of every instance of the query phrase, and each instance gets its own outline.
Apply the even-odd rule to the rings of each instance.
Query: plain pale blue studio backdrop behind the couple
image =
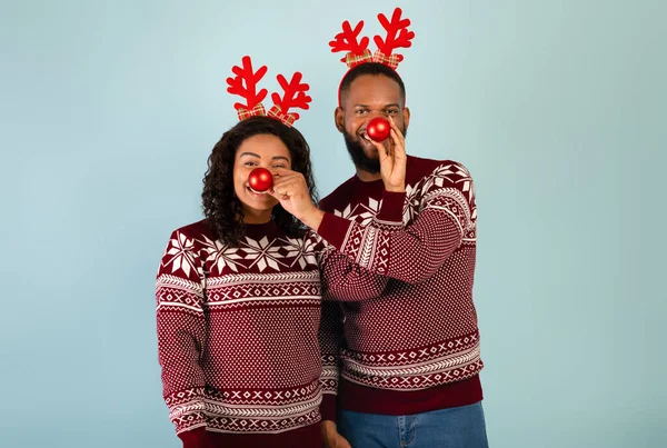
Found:
[[[407,151],[477,182],[491,447],[667,446],[665,2],[2,0],[1,447],[180,446],[155,276],[237,122],[226,78],[303,72],[327,195],[354,172],[328,42],[396,6]]]

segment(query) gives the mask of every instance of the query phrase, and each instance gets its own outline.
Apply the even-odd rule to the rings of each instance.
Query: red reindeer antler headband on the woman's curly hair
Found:
[[[309,102],[312,101],[306,92],[310,89],[307,83],[301,82],[302,74],[295,72],[291,80],[288,82],[282,74],[278,74],[278,83],[283,90],[283,96],[278,92],[271,94],[273,106],[266,113],[262,104],[267,97],[267,89],[257,91],[257,83],[267,73],[267,66],[261,66],[257,71],[252,69],[252,61],[249,56],[242,59],[242,67],[235,66],[231,71],[236,74],[235,78],[227,78],[229,87],[227,91],[232,94],[238,94],[246,100],[246,103],[237,102],[233,108],[237,110],[239,120],[245,120],[256,116],[268,116],[275,118],[286,126],[291,127],[299,119],[299,113],[290,112],[290,108],[309,109]],[[245,86],[243,86],[245,81]]]

